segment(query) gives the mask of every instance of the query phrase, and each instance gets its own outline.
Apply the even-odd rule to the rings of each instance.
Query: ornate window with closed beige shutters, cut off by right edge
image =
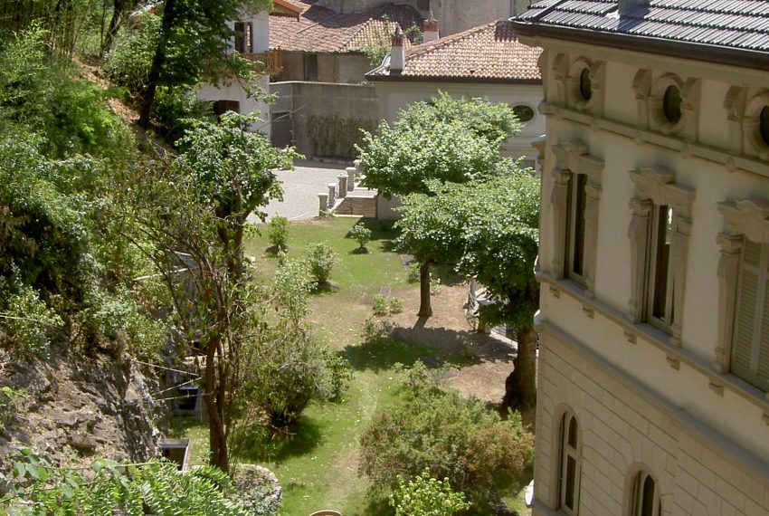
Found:
[[[769,201],[718,206],[726,231],[718,235],[717,367],[769,391]]]

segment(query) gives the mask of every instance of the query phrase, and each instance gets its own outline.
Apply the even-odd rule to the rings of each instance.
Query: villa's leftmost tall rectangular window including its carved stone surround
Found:
[[[556,277],[578,282],[593,297],[603,160],[590,156],[581,141],[556,145],[553,152],[553,268]]]

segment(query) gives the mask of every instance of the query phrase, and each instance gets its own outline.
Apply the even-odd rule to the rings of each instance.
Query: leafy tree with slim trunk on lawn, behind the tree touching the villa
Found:
[[[507,104],[455,100],[446,93],[414,102],[401,111],[393,127],[385,121],[378,134],[365,134],[358,151],[366,184],[387,197],[406,196],[429,193],[431,181],[466,183],[508,174],[512,162],[499,155],[499,146],[519,128]],[[425,217],[425,233],[405,240],[421,242],[408,247],[421,264],[419,315],[430,317],[430,266],[436,259],[453,263],[457,250],[437,234],[440,219],[426,212],[420,216]]]

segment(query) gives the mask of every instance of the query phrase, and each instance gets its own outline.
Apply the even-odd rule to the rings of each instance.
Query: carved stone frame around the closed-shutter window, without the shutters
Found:
[[[737,291],[745,239],[769,244],[769,200],[741,199],[718,204],[725,229],[717,236],[721,248],[718,261],[718,340],[715,367],[721,374],[731,374],[735,336]],[[765,394],[769,399],[769,393]]]

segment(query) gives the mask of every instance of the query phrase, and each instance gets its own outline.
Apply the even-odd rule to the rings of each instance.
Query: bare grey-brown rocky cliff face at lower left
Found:
[[[154,371],[142,371],[127,356],[54,350],[46,360],[23,362],[0,351],[0,387],[24,394],[5,411],[0,465],[22,448],[60,464],[157,456],[158,424],[167,413],[163,402],[153,401],[162,397],[158,385]]]

